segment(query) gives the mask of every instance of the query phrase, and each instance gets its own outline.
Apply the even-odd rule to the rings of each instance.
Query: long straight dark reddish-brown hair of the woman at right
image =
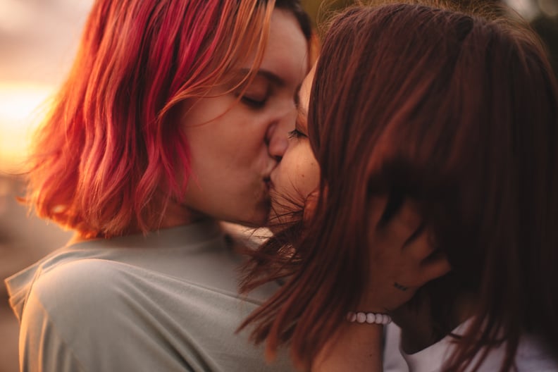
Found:
[[[478,299],[443,371],[502,337],[508,371],[526,332],[558,349],[558,93],[531,30],[419,4],[352,8],[323,42],[308,125],[322,192],[294,254],[268,244],[249,266],[244,289],[286,278],[243,325],[256,342],[290,342],[309,365],[359,302],[368,208],[387,194],[386,213],[418,202],[451,263],[433,309]]]

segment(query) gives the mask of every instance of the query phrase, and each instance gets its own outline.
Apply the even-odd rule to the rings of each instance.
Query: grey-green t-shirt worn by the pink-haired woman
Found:
[[[211,222],[63,247],[6,280],[22,371],[294,371],[235,334],[277,287],[241,298]]]

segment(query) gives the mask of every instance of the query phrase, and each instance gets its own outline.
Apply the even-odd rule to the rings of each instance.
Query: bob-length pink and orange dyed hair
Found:
[[[311,38],[299,0],[97,0],[35,134],[25,202],[85,237],[156,229],[189,176],[175,108],[255,75],[273,8]],[[246,76],[229,73],[254,54]]]

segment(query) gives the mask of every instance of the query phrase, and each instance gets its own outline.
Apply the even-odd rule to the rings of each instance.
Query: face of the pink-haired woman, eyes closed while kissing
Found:
[[[169,206],[165,225],[208,216],[254,226],[267,221],[269,177],[297,116],[307,58],[297,20],[275,9],[263,61],[240,102],[240,92],[215,87],[207,98],[183,104],[181,125],[190,144],[192,176],[184,203]],[[249,69],[252,61],[239,71]]]

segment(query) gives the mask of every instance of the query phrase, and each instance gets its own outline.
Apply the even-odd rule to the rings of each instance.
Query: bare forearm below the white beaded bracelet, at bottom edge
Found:
[[[318,353],[312,372],[382,371],[383,325],[345,323]]]

